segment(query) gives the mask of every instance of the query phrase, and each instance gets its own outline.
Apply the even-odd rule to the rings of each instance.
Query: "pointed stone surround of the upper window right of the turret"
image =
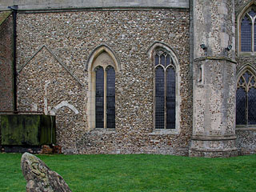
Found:
[[[240,49],[240,30],[241,30],[241,19],[242,17],[244,16],[244,14],[246,14],[246,10],[248,10],[250,8],[250,6],[256,6],[256,0],[253,0],[253,1],[250,1],[250,2],[247,2],[245,6],[242,6],[242,9],[240,9],[238,11],[238,16],[237,16],[237,50],[238,50],[238,57],[240,56],[240,54],[242,54],[242,56],[246,55],[246,53],[248,54],[248,52],[245,52],[243,53]],[[251,53],[249,56],[251,55],[255,55],[255,52],[256,51],[252,51],[252,52],[249,52]]]

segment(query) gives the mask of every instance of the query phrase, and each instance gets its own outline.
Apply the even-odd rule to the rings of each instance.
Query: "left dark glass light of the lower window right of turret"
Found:
[[[242,87],[237,90],[236,124],[246,125],[246,90]]]

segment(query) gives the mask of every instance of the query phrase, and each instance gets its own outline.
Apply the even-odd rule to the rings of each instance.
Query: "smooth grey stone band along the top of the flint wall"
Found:
[[[189,0],[0,0],[0,10],[7,10],[7,6],[18,5],[20,10],[50,10],[50,9],[81,9],[108,7],[174,7],[187,9]]]

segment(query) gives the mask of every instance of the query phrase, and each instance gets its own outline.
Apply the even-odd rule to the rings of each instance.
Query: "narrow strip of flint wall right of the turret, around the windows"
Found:
[[[247,6],[250,2],[248,0],[236,0],[235,1],[235,17],[236,17],[236,37],[237,37],[237,46],[236,46],[236,54],[237,54],[237,74],[242,70],[243,66],[249,65],[256,68],[255,56],[244,56],[239,54],[238,50],[238,15],[241,13],[243,8]],[[237,77],[238,78],[238,77]],[[238,154],[254,154],[256,152],[256,126],[250,127],[236,127],[236,135],[237,135],[237,145],[238,145]]]

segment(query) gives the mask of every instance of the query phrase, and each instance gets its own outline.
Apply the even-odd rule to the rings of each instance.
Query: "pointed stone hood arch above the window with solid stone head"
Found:
[[[114,50],[110,48],[110,46],[107,46],[106,44],[102,44],[100,46],[97,46],[91,53],[88,58],[88,61],[86,62],[86,71],[90,72],[92,69],[91,67],[93,66],[93,63],[95,59],[98,57],[99,54],[102,54],[102,52],[106,52],[107,54],[110,55],[110,58],[113,59],[114,65],[116,66],[116,71],[122,70],[122,65],[121,62],[119,61],[117,54],[115,54]]]

